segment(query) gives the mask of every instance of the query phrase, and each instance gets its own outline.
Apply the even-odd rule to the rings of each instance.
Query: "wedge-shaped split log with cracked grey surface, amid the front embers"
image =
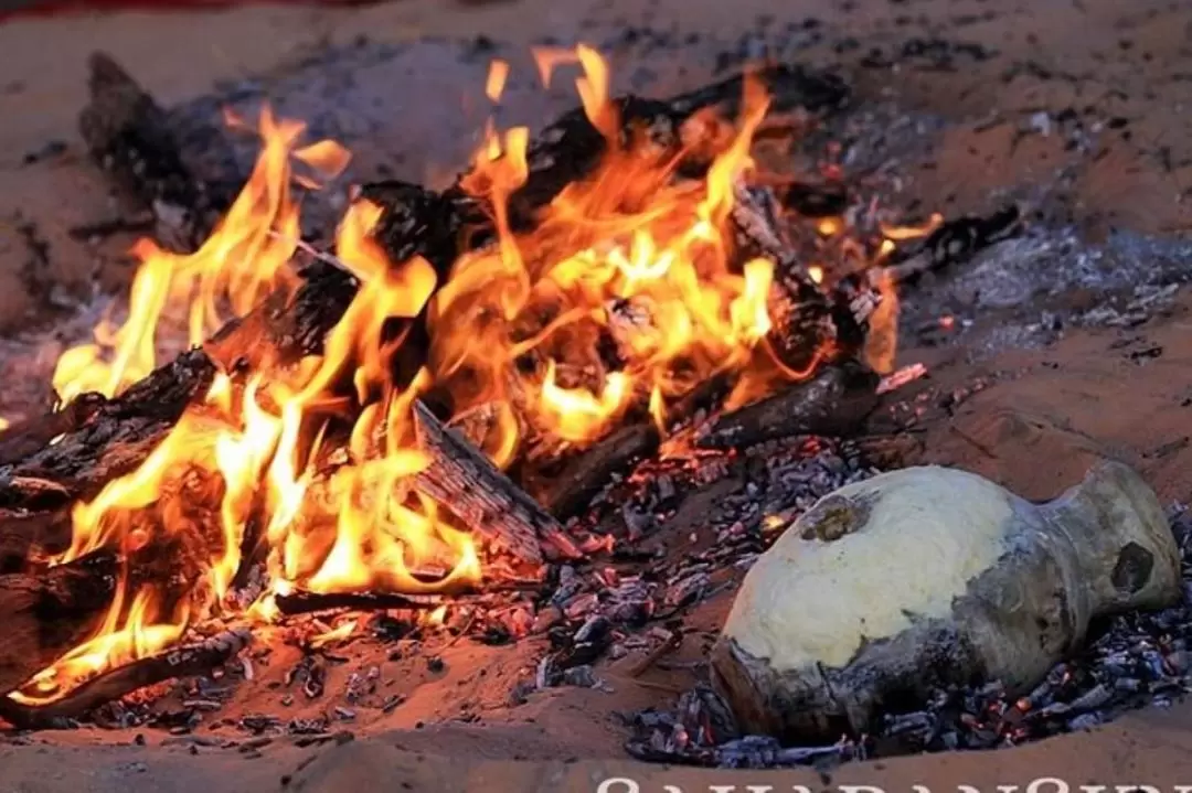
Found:
[[[422,402],[415,402],[414,416],[418,444],[432,457],[430,467],[417,475],[423,492],[522,561],[539,563],[548,550],[581,556],[558,520],[462,435],[443,426]]]

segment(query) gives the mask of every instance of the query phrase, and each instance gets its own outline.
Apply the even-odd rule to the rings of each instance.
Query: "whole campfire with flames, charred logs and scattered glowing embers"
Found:
[[[339,207],[339,143],[231,118],[259,151],[229,189],[93,56],[83,138],[154,235],[52,410],[0,436],[0,719],[218,728],[247,754],[344,741],[405,705],[383,664],[445,676],[462,645],[517,654],[490,678],[514,704],[613,668],[706,679],[708,648],[679,652],[719,627],[699,607],[819,499],[905,464],[929,370],[894,367],[899,287],[1022,232],[1018,207],[905,212],[831,146],[774,167],[846,106],[828,73],[645,99],[611,95],[592,48],[535,56],[544,81],[577,70],[576,110],[490,123],[443,189]],[[493,61],[492,102],[507,77]],[[696,683],[626,714],[626,747],[774,767],[1022,743],[1182,692],[1188,622],[1118,617],[1025,697],[942,688],[822,745],[744,735]]]

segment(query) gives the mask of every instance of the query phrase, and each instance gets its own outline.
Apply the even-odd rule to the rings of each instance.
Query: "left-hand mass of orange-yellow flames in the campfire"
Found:
[[[69,351],[60,366],[60,393],[116,393],[147,373],[155,361],[154,335],[172,296],[192,293],[193,302],[185,305],[192,308],[194,339],[216,321],[221,304],[247,311],[253,295],[267,285],[286,287],[283,268],[297,238],[287,187],[290,155],[324,173],[346,162],[334,145],[294,150],[300,130],[292,121],[262,117],[265,146],[257,167],[228,217],[195,254],[138,245],[142,268],[129,319],[107,345],[114,356],[103,361],[95,349],[86,355]],[[221,610],[244,562],[254,519],[265,526],[274,592],[298,585],[318,592],[365,587],[434,592],[479,576],[470,536],[439,520],[433,505],[408,483],[427,463],[412,448],[408,426],[418,388],[404,393],[391,388],[386,352],[392,344],[383,333],[389,320],[421,311],[435,274],[421,258],[401,266],[386,261],[368,236],[379,214],[378,207],[359,202],[341,224],[336,252],[359,279],[360,289],[329,335],[322,357],[304,361],[296,373],[272,373],[268,389],[265,373],[254,373],[243,387],[218,375],[204,402],[184,414],[136,470],[75,507],[70,549],[56,562],[117,549],[124,560],[118,597],[89,641],[14,698],[51,701],[83,679],[176,642],[193,619]],[[317,439],[312,449],[300,448],[306,445],[309,426],[325,429],[327,405],[335,401],[337,383],[344,380],[362,406],[350,433],[352,460],[319,482],[322,499],[315,504],[310,495],[316,486]],[[187,572],[201,583],[180,597],[168,592],[168,581],[142,580],[138,551],[193,530],[193,522],[181,514],[182,497],[174,493],[185,487],[188,472],[206,472],[218,483],[218,531],[210,537],[179,536],[209,549],[201,569]],[[427,570],[440,575],[424,575]],[[268,608],[250,613],[260,617]]]

